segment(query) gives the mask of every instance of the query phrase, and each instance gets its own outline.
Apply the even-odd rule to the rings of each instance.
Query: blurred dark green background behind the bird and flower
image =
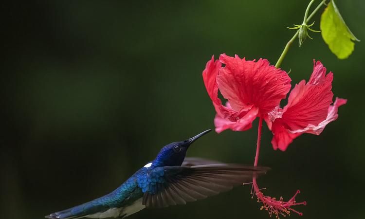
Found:
[[[215,111],[201,72],[211,55],[267,58],[274,64],[309,0],[26,1],[2,5],[1,219],[44,215],[102,196],[154,159],[167,143],[213,128]],[[317,5],[316,0],[313,5]],[[365,2],[337,0],[365,40]],[[314,9],[314,6],[312,7]],[[319,29],[319,18],[314,29]],[[259,179],[266,195],[297,201],[303,218],[364,218],[364,56],[331,54],[320,34],[296,40],[282,68],[292,85],[308,80],[312,59],[334,72],[347,98],[320,136],[304,134],[274,151],[264,126]],[[189,156],[252,164],[257,120],[245,132],[210,133]],[[144,210],[131,219],[262,218],[241,186],[204,201]],[[299,218],[292,215],[292,218]]]

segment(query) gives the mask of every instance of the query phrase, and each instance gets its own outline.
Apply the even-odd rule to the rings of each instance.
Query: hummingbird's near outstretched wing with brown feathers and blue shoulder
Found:
[[[186,204],[252,181],[269,168],[242,164],[157,167],[146,179],[142,204],[149,208]]]

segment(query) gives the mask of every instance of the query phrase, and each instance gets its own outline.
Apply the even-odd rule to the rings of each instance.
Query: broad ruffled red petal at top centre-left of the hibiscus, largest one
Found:
[[[217,76],[219,90],[235,111],[247,111],[253,105],[260,114],[268,113],[291,88],[288,74],[271,66],[266,59],[246,61],[237,55],[223,54],[219,60],[225,64]]]

